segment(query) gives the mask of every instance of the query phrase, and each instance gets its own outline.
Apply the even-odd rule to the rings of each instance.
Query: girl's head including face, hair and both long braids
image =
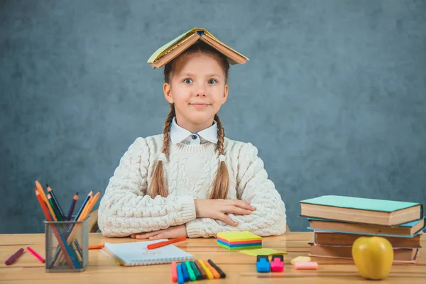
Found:
[[[229,62],[222,53],[198,41],[164,67],[163,92],[170,103],[170,112],[163,129],[163,156],[169,153],[170,126],[176,116],[178,124],[198,132],[217,122],[219,169],[213,180],[212,199],[226,199],[229,173],[224,162],[224,129],[217,116],[228,97]],[[163,158],[158,160],[150,185],[150,195],[166,197]]]

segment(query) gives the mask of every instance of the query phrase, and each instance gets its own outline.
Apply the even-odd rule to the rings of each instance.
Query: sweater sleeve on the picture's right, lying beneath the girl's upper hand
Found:
[[[250,215],[228,216],[238,226],[230,226],[222,221],[201,218],[187,223],[190,237],[216,236],[221,231],[251,231],[259,236],[277,236],[284,234],[286,225],[285,205],[275,185],[268,180],[263,168],[263,160],[251,143],[241,147],[238,158],[237,189],[241,200],[251,202],[256,208]]]

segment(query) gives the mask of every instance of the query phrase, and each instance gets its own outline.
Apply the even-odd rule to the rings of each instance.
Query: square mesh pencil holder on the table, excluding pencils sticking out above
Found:
[[[80,272],[89,263],[89,223],[45,221],[46,272]]]

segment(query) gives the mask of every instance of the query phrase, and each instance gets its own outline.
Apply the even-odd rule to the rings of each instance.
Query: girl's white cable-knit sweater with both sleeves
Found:
[[[284,202],[251,143],[224,140],[228,199],[249,200],[256,208],[249,215],[228,214],[238,226],[195,217],[194,199],[209,198],[219,167],[214,143],[171,145],[163,161],[169,195],[154,199],[147,195],[162,146],[163,135],[137,138],[121,158],[99,205],[98,224],[104,236],[129,236],[185,223],[191,238],[216,236],[220,231],[247,230],[260,236],[285,232]]]

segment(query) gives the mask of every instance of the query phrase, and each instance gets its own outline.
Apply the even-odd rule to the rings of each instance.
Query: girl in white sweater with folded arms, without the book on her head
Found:
[[[285,232],[284,202],[251,143],[224,136],[227,58],[198,41],[168,62],[163,134],[137,138],[99,205],[104,236],[209,237],[220,231]]]

